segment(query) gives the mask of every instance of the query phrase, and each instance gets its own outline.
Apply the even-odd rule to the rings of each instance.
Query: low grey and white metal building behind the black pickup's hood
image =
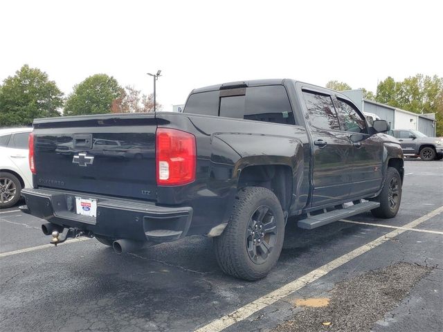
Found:
[[[435,113],[418,114],[404,109],[380,104],[363,98],[363,90],[341,91],[347,95],[361,111],[377,114],[389,122],[391,129],[415,129],[426,136],[435,137]]]

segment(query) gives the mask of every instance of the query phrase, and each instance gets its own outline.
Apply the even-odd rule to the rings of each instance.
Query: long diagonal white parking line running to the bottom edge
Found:
[[[413,228],[419,225],[420,223],[423,223],[424,221],[431,219],[433,216],[440,214],[441,212],[443,212],[443,206],[433,210],[432,212],[429,212],[428,214],[425,214],[424,216],[419,217],[418,219],[415,219],[414,221],[411,221],[410,223],[407,223],[405,225],[405,228]],[[255,301],[250,302],[242,306],[241,308],[238,308],[236,311],[233,311],[232,313],[229,313],[228,315],[225,315],[219,318],[218,320],[206,324],[200,329],[195,330],[195,332],[218,332],[223,329],[226,329],[228,326],[231,326],[236,322],[244,320],[250,315],[253,315],[253,313],[260,311],[262,308],[266,308],[266,306],[269,306],[277,302],[279,299],[287,297],[288,295],[291,295],[292,293],[298,291],[300,288],[303,288],[308,284],[315,282],[320,277],[323,277],[324,275],[327,275],[327,273],[331,272],[335,268],[338,268],[343,264],[346,264],[351,259],[363,255],[365,252],[368,252],[369,250],[372,250],[377,246],[380,246],[386,241],[389,241],[390,239],[397,237],[399,234],[402,234],[406,231],[407,231],[406,229],[393,230],[392,232],[389,232],[388,234],[385,234],[379,237],[378,239],[375,239],[374,241],[370,241],[369,243],[366,243],[365,245],[356,248],[351,252],[348,252],[347,254],[338,257],[337,259],[334,259],[333,261],[330,261],[329,263],[323,266],[320,266],[320,268],[316,268],[316,270],[307,273],[307,275],[303,275],[302,277],[293,280],[293,282],[289,282],[289,284],[285,284],[284,286],[276,289],[275,291],[268,293],[260,297],[259,299],[255,299]]]

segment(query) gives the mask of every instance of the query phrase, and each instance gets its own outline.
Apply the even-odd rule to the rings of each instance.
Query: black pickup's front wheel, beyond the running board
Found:
[[[401,203],[401,178],[397,169],[388,167],[383,189],[379,196],[371,201],[380,203],[379,208],[371,210],[373,216],[389,219],[397,215]]]

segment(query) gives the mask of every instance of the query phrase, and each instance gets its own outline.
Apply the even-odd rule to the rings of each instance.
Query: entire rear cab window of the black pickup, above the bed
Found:
[[[296,124],[287,91],[282,85],[194,93],[190,95],[184,111],[226,118]]]

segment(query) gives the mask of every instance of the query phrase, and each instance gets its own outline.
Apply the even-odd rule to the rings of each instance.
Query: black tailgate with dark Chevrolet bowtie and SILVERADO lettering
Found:
[[[34,122],[34,187],[156,200],[153,114]]]

